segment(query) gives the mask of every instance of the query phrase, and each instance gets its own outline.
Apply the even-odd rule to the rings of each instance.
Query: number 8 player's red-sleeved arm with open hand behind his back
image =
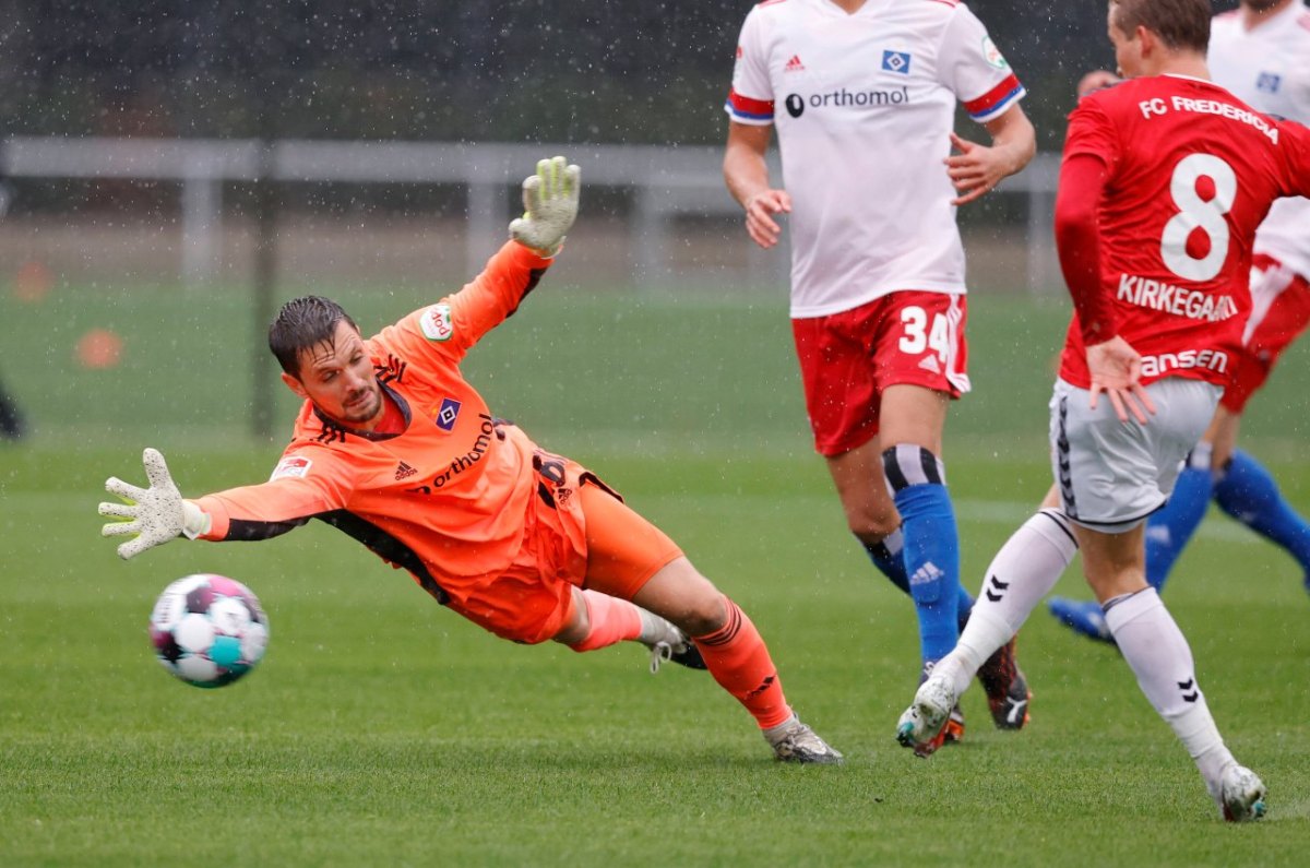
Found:
[[[1065,159],[1056,193],[1056,250],[1087,349],[1091,408],[1104,392],[1120,421],[1127,422],[1132,413],[1145,424],[1155,405],[1140,383],[1141,355],[1119,336],[1114,306],[1100,279],[1098,211],[1108,180],[1108,168],[1096,156],[1076,153]]]

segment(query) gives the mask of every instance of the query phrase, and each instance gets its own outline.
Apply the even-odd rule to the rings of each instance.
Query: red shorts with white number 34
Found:
[[[791,321],[806,410],[820,455],[841,455],[878,434],[888,385],[969,391],[963,295],[903,290],[867,304]]]

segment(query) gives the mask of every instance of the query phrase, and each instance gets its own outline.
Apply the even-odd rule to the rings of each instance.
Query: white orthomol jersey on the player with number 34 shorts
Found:
[[[979,122],[1024,94],[954,0],[766,0],[745,17],[732,121],[777,125],[791,194],[791,316],[896,290],[963,294],[951,152],[955,104]],[[774,110],[777,108],[777,111]]]

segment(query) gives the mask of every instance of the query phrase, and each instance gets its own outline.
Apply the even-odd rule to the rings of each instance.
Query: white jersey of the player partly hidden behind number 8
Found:
[[[1210,25],[1210,75],[1265,114],[1310,125],[1310,8],[1293,3],[1247,30],[1239,12]],[[1310,278],[1310,199],[1280,199],[1255,233],[1255,252]]]

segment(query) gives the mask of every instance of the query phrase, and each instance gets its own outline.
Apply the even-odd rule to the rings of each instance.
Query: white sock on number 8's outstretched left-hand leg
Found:
[[[986,569],[955,650],[937,663],[937,671],[955,679],[956,695],[968,688],[979,666],[1019,632],[1077,553],[1069,519],[1055,509],[1040,510],[1006,540]]]

